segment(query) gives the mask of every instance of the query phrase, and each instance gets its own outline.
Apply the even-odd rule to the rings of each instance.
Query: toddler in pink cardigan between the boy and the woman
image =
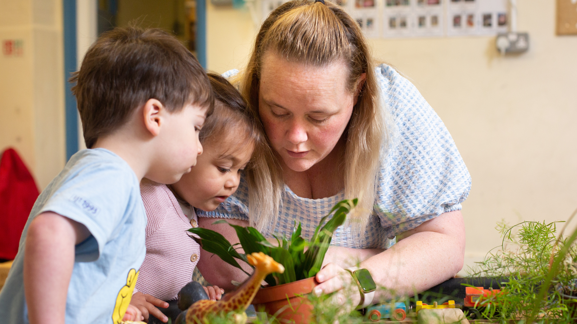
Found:
[[[237,89],[218,74],[208,77],[215,108],[200,131],[203,153],[197,164],[169,186],[146,179],[140,184],[148,217],[147,254],[131,303],[145,318],[151,314],[162,322],[168,317],[174,322],[178,316],[178,292],[191,280],[200,258],[200,246],[186,232],[198,226],[194,208],[214,210],[237,190],[241,172],[261,138]],[[224,292],[216,286],[205,290],[211,299],[220,299]],[[168,308],[161,311],[155,306]]]

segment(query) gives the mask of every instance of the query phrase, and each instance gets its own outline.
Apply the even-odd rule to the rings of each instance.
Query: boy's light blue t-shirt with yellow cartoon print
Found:
[[[73,155],[36,199],[0,293],[0,322],[28,323],[23,284],[26,234],[31,221],[48,211],[84,224],[92,234],[75,248],[66,323],[114,323],[113,312],[118,318],[128,306],[146,254],[146,213],[136,175],[106,149]]]

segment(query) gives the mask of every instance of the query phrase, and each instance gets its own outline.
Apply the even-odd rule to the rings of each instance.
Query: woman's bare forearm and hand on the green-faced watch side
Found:
[[[392,289],[394,295],[412,296],[415,292],[425,291],[454,277],[463,268],[465,229],[460,210],[426,221],[399,235],[398,239],[398,243],[388,250],[359,264],[369,270],[377,286]],[[361,259],[362,253],[356,256]],[[330,293],[349,284],[351,276],[342,266],[329,263],[317,274],[317,280],[323,282],[317,288]],[[355,301],[360,299],[357,295],[352,296]],[[336,300],[349,297],[342,292],[334,296]],[[391,297],[391,292],[381,290],[377,291],[374,300]]]

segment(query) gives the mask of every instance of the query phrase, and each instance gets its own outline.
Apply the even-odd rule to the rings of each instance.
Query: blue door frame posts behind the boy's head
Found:
[[[78,113],[76,98],[72,95],[72,84],[68,82],[70,73],[77,67],[76,46],[76,0],[63,0],[64,29],[64,89],[65,89],[65,127],[66,161],[78,152]],[[95,14],[98,9],[95,8]],[[196,5],[196,55],[200,65],[207,68],[207,5],[206,0],[197,0]]]

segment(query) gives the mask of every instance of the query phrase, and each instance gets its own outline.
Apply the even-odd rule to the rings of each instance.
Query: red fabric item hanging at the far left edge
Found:
[[[12,260],[24,225],[38,198],[34,178],[12,148],[0,160],[0,259]]]

